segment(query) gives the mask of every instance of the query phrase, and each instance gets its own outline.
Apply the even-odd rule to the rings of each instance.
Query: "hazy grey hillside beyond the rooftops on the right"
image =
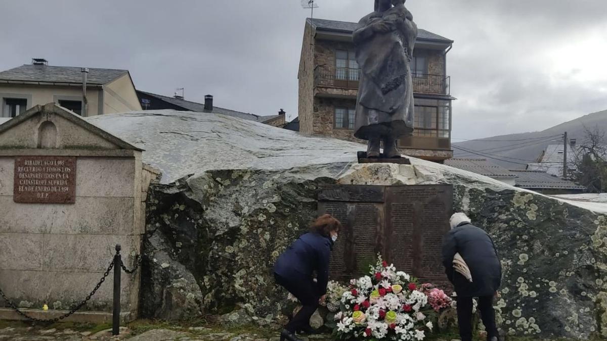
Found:
[[[563,132],[568,132],[569,139],[577,139],[578,143],[582,143],[585,138],[585,126],[607,131],[607,110],[590,113],[541,132],[499,135],[454,143],[453,151],[456,157],[494,157],[500,160],[490,160],[500,166],[523,169],[525,164],[535,162],[548,144],[563,143]]]

